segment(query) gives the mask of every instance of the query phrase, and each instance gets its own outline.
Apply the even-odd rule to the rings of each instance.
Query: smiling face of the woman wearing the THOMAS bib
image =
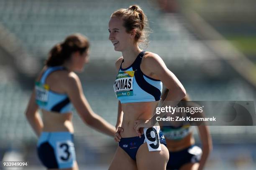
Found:
[[[118,17],[113,17],[108,23],[109,37],[113,43],[115,51],[123,51],[134,42],[132,33],[127,33],[123,26],[123,20]]]

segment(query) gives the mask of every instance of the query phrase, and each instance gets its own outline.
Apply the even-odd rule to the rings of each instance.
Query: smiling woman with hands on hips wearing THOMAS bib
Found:
[[[159,55],[146,52],[147,17],[138,5],[115,11],[109,21],[109,40],[122,52],[116,62],[114,83],[118,102],[115,140],[119,142],[110,170],[165,170],[169,159],[164,136],[152,119],[161,98],[162,84],[179,101],[185,90]]]

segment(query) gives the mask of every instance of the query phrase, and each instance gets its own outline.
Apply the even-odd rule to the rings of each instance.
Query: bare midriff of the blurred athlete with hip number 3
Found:
[[[74,133],[72,113],[58,113],[42,110],[44,132],[70,132]]]

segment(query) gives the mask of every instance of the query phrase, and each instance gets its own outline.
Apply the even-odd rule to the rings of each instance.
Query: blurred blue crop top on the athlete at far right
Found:
[[[161,131],[164,134],[164,138],[169,140],[182,140],[192,133],[192,126],[182,125],[182,126],[162,126]]]

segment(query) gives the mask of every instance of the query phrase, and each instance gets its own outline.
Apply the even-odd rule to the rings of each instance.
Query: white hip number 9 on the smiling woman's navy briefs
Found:
[[[153,126],[152,128],[143,128],[146,143],[148,145],[148,151],[161,150],[159,139],[159,126]]]

